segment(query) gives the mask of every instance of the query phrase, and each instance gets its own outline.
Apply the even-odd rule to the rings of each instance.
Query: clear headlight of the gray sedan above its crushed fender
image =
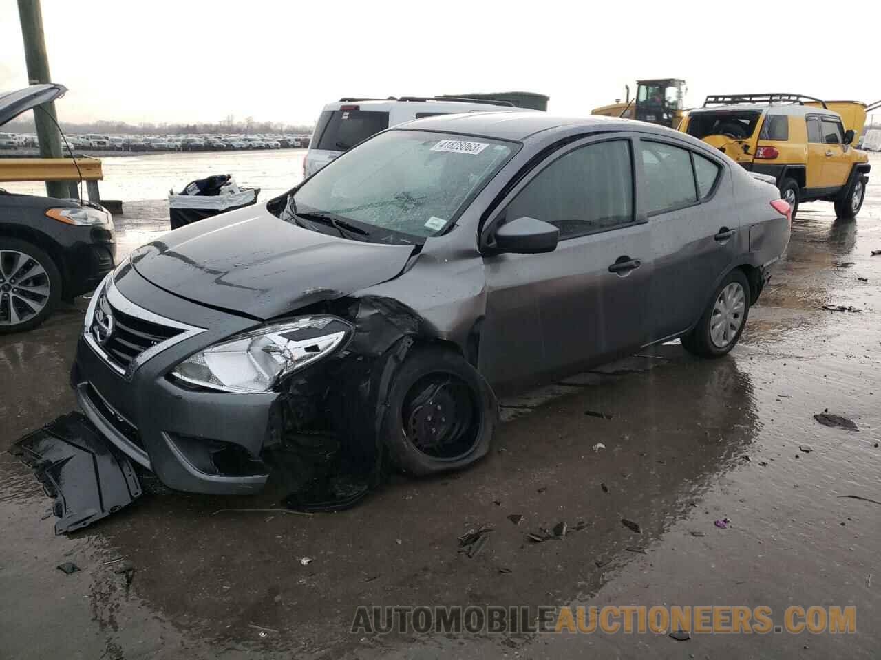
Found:
[[[332,316],[265,326],[189,356],[172,376],[224,392],[269,392],[280,378],[332,353],[351,329]]]

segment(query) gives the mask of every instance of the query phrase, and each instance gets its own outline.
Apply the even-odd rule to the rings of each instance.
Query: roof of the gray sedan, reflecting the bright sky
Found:
[[[618,130],[640,130],[657,133],[670,132],[670,128],[658,127],[653,124],[647,124],[644,121],[603,117],[600,115],[560,117],[541,112],[540,110],[442,114],[415,121],[406,121],[403,124],[398,124],[392,130],[400,130],[402,128],[463,133],[471,136],[515,141],[522,141],[529,136],[534,136],[544,131],[566,129],[569,132],[574,129],[577,132],[578,128],[583,129],[584,133],[609,131],[616,128]],[[680,137],[683,135],[675,131],[672,132]]]

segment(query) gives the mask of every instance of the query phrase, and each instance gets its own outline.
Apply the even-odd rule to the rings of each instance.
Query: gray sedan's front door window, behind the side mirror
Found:
[[[570,151],[539,172],[506,210],[506,220],[529,216],[574,238],[632,223],[633,159],[629,140]]]

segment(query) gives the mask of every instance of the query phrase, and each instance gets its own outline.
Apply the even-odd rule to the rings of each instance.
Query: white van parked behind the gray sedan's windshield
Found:
[[[303,177],[318,172],[340,154],[386,128],[436,114],[520,110],[507,101],[426,98],[339,99],[324,106],[303,158]]]

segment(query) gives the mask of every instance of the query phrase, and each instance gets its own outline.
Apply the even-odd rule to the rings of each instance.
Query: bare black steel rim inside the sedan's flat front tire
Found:
[[[434,373],[420,378],[403,400],[403,435],[426,456],[463,458],[474,450],[480,433],[480,407],[462,378]]]

